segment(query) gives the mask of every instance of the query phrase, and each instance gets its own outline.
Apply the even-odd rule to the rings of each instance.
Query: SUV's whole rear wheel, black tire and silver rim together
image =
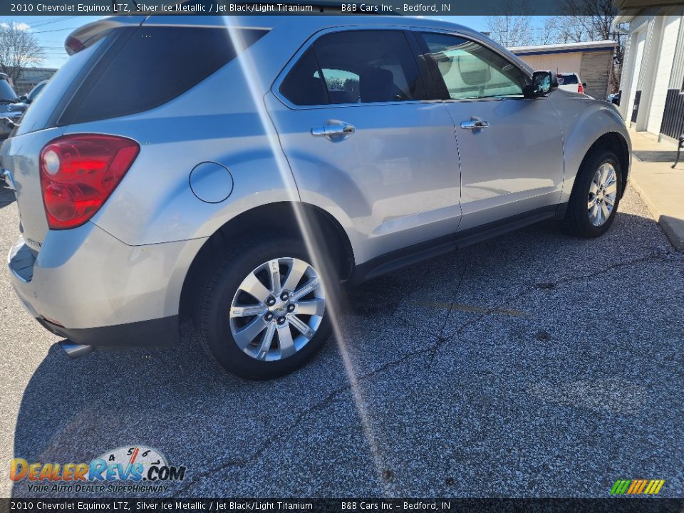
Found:
[[[262,237],[233,249],[202,294],[197,327],[204,350],[248,379],[303,366],[331,332],[326,293],[334,285],[326,280],[324,287],[321,272],[297,239]]]

